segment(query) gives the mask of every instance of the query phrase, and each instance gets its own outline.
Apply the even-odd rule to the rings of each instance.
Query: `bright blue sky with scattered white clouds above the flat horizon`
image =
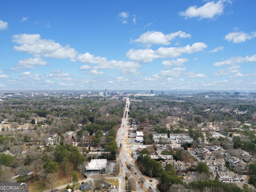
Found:
[[[0,1],[0,89],[250,89],[256,1]]]

